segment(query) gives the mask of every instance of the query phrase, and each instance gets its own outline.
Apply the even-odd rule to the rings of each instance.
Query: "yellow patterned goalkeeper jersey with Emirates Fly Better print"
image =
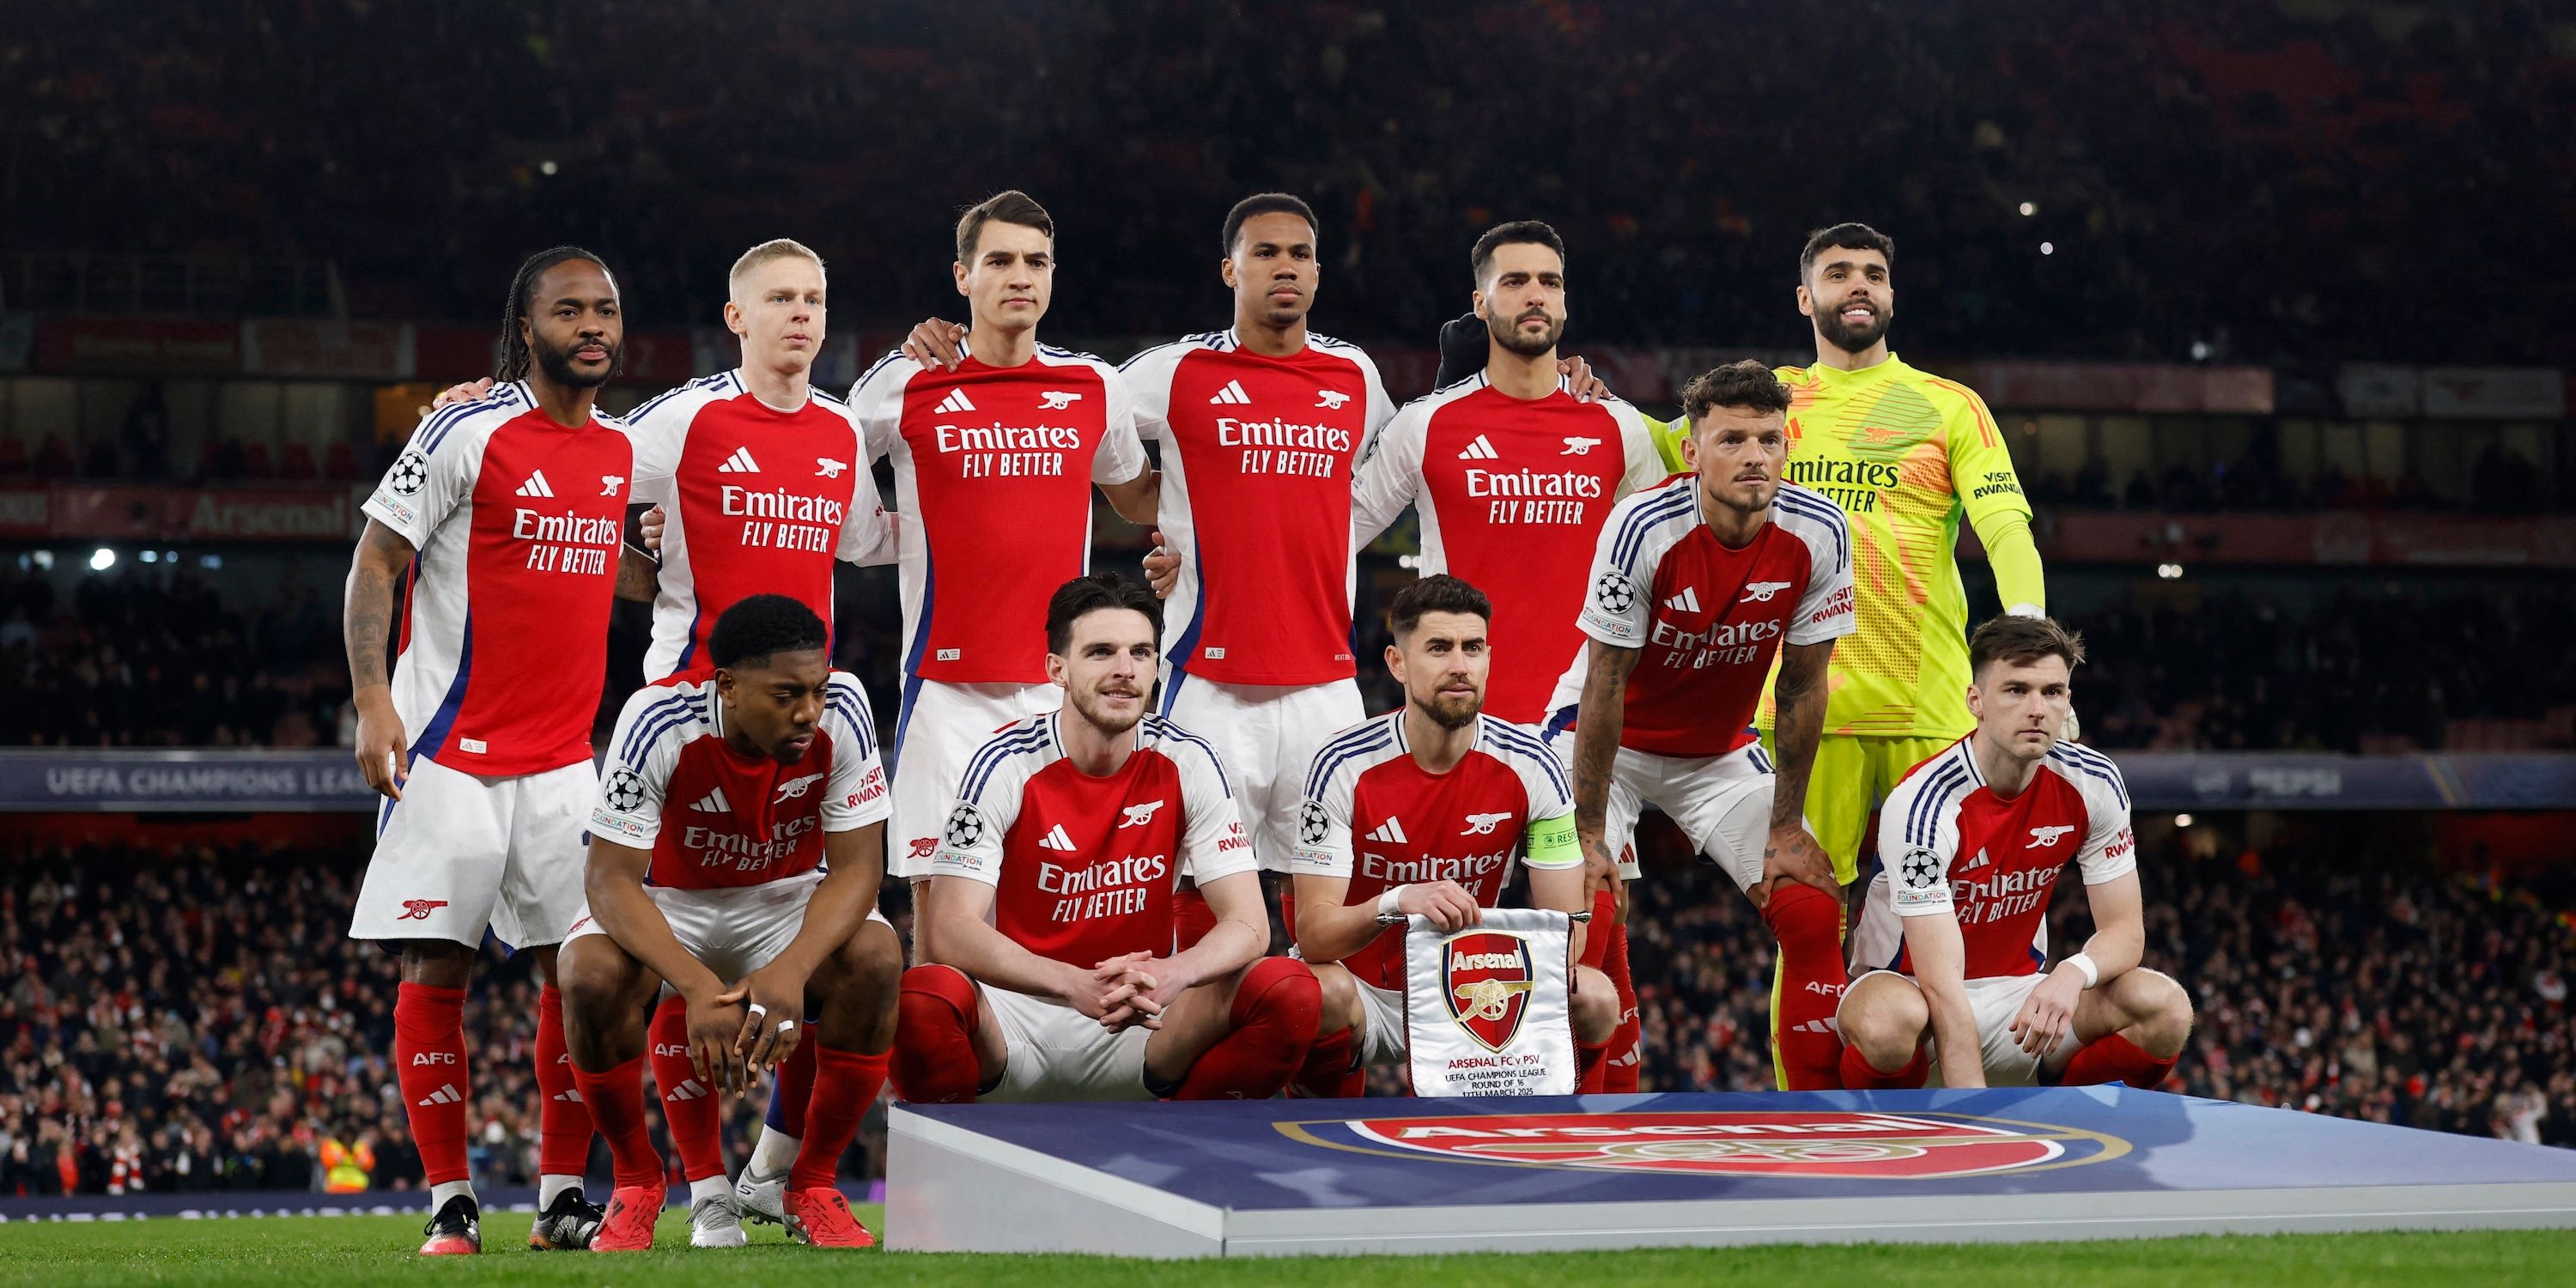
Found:
[[[1852,520],[1852,608],[1834,644],[1826,734],[1960,737],[1968,719],[1968,592],[1958,526],[2030,526],[1994,412],[1968,386],[1899,361],[1783,366],[1788,479]],[[2030,590],[2038,595],[2038,590]],[[2009,600],[2007,600],[2009,603]],[[1772,729],[1765,690],[1759,726]]]

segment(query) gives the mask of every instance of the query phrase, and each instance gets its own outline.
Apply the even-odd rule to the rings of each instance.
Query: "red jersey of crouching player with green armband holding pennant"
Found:
[[[1296,876],[1340,876],[1345,904],[1394,886],[1455,881],[1479,907],[1497,907],[1512,863],[1528,858],[1530,827],[1574,817],[1574,783],[1535,729],[1476,716],[1476,744],[1448,773],[1430,773],[1404,737],[1404,711],[1360,721],[1316,752],[1298,806]],[[1582,868],[1582,853],[1548,868]],[[1404,927],[1391,925],[1342,961],[1378,989],[1404,989]]]

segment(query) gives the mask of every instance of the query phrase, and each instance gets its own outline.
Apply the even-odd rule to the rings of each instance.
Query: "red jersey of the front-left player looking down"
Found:
[[[732,889],[822,868],[824,832],[855,832],[889,811],[876,716],[855,675],[832,672],[814,744],[781,765],[724,742],[724,698],[714,675],[698,672],[626,698],[590,832],[652,850],[647,884]]]

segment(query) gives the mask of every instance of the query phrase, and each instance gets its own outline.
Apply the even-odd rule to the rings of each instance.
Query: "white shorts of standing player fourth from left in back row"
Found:
[[[1288,871],[1306,770],[1332,734],[1368,719],[1358,680],[1229,685],[1164,667],[1162,714],[1208,739],[1262,871]]]

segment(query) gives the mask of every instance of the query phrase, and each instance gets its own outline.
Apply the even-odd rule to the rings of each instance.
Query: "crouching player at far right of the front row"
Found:
[[[2156,1087],[2192,1030],[2192,999],[2138,966],[2146,917],[2128,788],[2110,757],[2061,742],[2084,639],[2002,616],[1968,639],[1976,732],[1917,765],[1880,806],[1888,868],[1852,935],[1883,963],[1842,997],[1847,1087],[1922,1087],[1924,1038],[1945,1087]],[[2074,858],[2094,933],[2040,971],[2048,896]]]

